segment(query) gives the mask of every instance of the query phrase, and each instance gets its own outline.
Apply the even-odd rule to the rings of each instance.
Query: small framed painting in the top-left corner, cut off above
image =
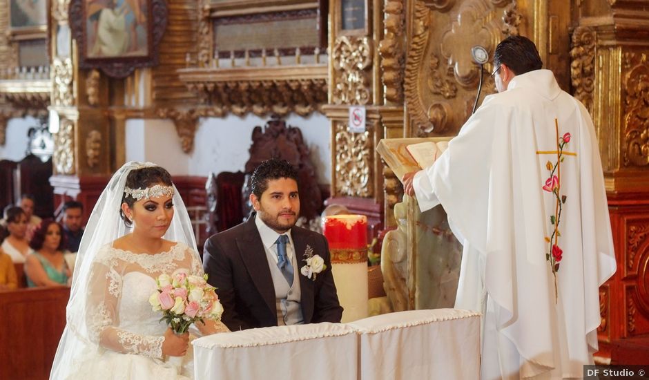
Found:
[[[48,0],[6,0],[9,32],[13,39],[44,39],[48,27]]]

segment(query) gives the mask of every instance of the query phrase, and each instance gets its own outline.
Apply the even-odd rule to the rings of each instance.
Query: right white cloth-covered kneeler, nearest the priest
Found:
[[[360,334],[358,379],[478,379],[480,319],[476,312],[436,309],[347,323]]]

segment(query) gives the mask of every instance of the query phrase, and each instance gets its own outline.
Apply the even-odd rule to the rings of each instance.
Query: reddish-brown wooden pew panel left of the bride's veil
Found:
[[[0,379],[48,379],[68,298],[68,287],[0,293]]]

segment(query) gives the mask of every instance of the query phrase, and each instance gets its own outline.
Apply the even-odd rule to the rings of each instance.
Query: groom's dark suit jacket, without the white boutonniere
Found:
[[[300,278],[302,316],[304,323],[340,322],[342,307],[336,295],[331,274],[331,257],[327,240],[321,234],[293,227]],[[313,281],[300,274],[307,245],[324,259],[327,269]],[[207,282],[216,287],[223,305],[221,320],[230,330],[278,325],[275,310],[275,287],[264,251],[255,213],[246,222],[213,235],[205,242],[203,267]]]

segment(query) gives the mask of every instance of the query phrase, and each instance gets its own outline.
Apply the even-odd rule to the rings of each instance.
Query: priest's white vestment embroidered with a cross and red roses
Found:
[[[583,377],[597,351],[599,285],[616,269],[583,104],[550,70],[516,75],[413,184],[421,211],[441,203],[464,244],[456,307],[484,313],[481,378]]]

